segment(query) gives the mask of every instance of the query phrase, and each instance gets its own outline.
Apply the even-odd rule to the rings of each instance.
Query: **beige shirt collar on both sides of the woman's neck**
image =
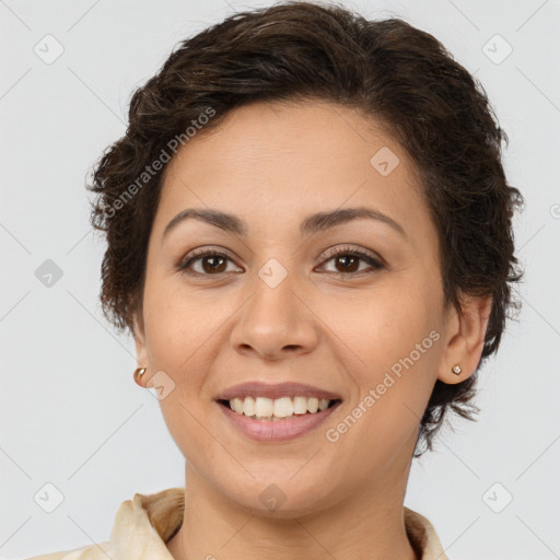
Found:
[[[118,509],[109,541],[27,560],[173,560],[165,542],[183,524],[184,505],[184,488],[137,493]],[[421,560],[450,560],[431,523],[408,508],[404,512],[408,538]]]

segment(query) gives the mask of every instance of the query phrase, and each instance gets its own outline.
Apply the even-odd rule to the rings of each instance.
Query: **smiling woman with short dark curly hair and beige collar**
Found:
[[[288,2],[185,40],[90,187],[185,488],[36,558],[446,559],[404,498],[445,413],[474,419],[522,278],[504,139],[399,19]]]

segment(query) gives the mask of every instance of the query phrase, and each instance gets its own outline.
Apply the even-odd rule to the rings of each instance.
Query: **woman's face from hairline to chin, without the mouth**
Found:
[[[436,231],[405,153],[373,125],[330,103],[257,103],[168,164],[138,362],[161,387],[189,483],[240,506],[266,514],[277,498],[281,515],[404,493],[433,385],[456,383],[459,323],[443,306]],[[388,218],[312,218],[355,208]],[[245,232],[188,218],[164,234],[187,209],[231,214]],[[180,269],[194,249],[224,256]],[[298,436],[257,441],[215,400],[245,382],[303,383],[341,402]]]

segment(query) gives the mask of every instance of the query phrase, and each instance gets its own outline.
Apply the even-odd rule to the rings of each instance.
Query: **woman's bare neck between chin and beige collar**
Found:
[[[187,463],[183,525],[166,546],[175,560],[417,560],[404,522],[409,469],[372,476],[352,494],[343,489],[328,508],[265,515],[224,499]]]

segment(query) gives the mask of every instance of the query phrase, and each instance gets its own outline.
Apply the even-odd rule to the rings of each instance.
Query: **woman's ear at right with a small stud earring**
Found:
[[[460,312],[452,306],[447,317],[445,348],[438,372],[438,378],[451,385],[460,383],[475,373],[485,346],[492,298],[463,295],[460,306]],[[459,375],[452,372],[455,364],[460,365]]]

